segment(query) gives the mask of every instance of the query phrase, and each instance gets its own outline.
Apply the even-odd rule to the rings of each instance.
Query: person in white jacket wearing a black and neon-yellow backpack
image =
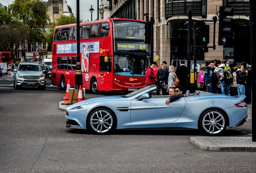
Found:
[[[218,60],[217,65],[218,67],[215,68],[214,72],[221,75],[221,94],[230,95],[230,85],[233,82],[233,75],[229,67],[229,62],[225,61],[225,64],[222,64],[222,62]]]

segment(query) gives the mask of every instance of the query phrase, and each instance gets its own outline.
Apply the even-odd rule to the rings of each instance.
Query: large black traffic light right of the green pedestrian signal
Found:
[[[233,14],[233,8],[219,7],[218,45],[224,45],[225,37],[231,37],[233,35],[233,18],[227,18],[227,16],[233,16]]]

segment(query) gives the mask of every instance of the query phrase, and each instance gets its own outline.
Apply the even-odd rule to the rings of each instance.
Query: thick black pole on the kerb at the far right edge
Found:
[[[250,0],[250,26],[251,26],[251,61],[252,61],[252,104],[256,103],[256,1]],[[252,141],[256,141],[256,116],[255,116],[256,107],[252,106]]]

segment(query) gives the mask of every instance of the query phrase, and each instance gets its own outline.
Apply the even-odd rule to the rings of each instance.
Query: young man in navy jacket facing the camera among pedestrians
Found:
[[[207,87],[207,92],[209,93],[215,93],[217,87],[217,74],[214,73],[214,66],[215,63],[214,60],[212,60],[210,66],[207,66],[204,72],[204,82]]]

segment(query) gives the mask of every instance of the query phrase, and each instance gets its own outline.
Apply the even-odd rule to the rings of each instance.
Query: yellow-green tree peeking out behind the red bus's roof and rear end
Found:
[[[74,24],[74,23],[76,23],[76,17],[61,15],[60,18],[57,20],[57,22],[53,22],[53,24],[49,27],[50,33],[47,34],[47,37],[46,37],[47,44],[50,47],[52,47],[54,28],[56,26],[61,26],[61,25],[66,25],[66,24]]]

